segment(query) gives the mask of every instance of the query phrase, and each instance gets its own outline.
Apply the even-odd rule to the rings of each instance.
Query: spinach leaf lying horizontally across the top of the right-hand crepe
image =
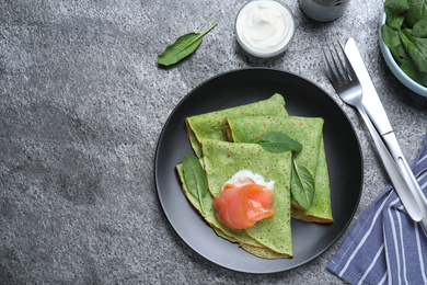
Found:
[[[289,150],[300,152],[302,150],[300,142],[280,132],[267,133],[257,144],[270,152],[285,152]]]

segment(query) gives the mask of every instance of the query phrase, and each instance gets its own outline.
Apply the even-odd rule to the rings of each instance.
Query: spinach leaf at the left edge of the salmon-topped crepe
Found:
[[[205,212],[204,198],[209,193],[208,179],[200,161],[193,155],[185,156],[183,160],[184,183],[189,194],[197,198],[201,213]]]

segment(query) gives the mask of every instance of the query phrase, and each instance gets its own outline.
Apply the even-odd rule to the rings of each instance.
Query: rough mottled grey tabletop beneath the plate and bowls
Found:
[[[350,0],[331,23],[297,20],[289,49],[245,54],[230,0],[0,0],[1,284],[342,284],[326,270],[344,237],[388,183],[355,111],[323,69],[321,47],[353,36],[402,149],[415,158],[427,99],[401,84],[378,38],[382,0]],[[157,56],[180,35],[218,22],[196,53],[171,68]],[[221,72],[268,67],[323,88],[348,114],[363,156],[363,191],[344,236],[312,262],[268,275],[233,272],[194,252],[158,198],[154,155],[176,104]]]

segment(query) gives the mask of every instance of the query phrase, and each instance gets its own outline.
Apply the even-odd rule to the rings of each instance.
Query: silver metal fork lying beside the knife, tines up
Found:
[[[402,204],[413,220],[422,221],[422,228],[427,236],[427,220],[423,220],[423,212],[418,206],[418,203],[415,200],[409,185],[405,182],[396,162],[394,161],[384,141],[381,139],[365,111],[365,107],[361,103],[363,96],[361,84],[355,73],[355,70],[348,61],[343,47],[337,43],[322,50],[326,64],[326,75],[331,80],[336,93],[345,103],[354,106],[359,112],[369,129],[378,153],[381,157],[384,168],[399,194],[399,197],[402,201]],[[338,50],[341,52],[342,56],[339,55]]]

